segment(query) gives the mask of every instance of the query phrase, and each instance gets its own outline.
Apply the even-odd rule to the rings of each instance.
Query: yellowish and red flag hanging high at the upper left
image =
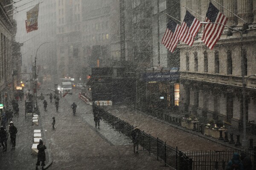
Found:
[[[38,30],[38,11],[39,3],[34,8],[27,11],[27,20],[25,21],[27,33]]]

